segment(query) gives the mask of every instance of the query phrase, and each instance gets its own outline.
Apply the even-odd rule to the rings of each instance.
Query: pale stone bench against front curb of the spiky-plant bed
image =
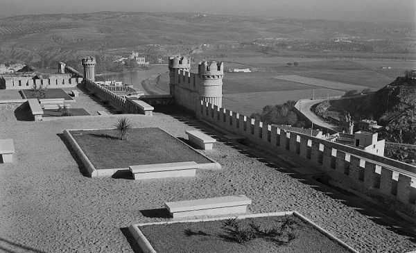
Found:
[[[144,164],[129,166],[135,180],[163,177],[195,177],[196,162],[174,162],[169,164]]]

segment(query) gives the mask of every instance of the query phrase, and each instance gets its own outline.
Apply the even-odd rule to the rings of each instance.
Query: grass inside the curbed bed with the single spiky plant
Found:
[[[211,162],[159,128],[132,128],[125,141],[117,139],[117,130],[70,132],[96,169],[171,162]]]

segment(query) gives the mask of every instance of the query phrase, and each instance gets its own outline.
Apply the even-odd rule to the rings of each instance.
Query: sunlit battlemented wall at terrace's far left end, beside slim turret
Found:
[[[83,78],[67,78],[66,75],[59,77],[54,75],[46,79],[33,79],[32,76],[1,76],[0,89],[33,89],[33,85],[40,87],[67,88],[76,87],[83,81]]]

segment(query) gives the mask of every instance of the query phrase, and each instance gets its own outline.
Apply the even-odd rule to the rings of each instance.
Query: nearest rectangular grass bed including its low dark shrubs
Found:
[[[240,216],[239,219],[212,218],[136,226],[139,229],[137,234],[141,234],[138,243],[142,250],[149,250],[150,246],[158,253],[355,252],[294,215],[254,218]],[[130,227],[133,233],[137,229]]]

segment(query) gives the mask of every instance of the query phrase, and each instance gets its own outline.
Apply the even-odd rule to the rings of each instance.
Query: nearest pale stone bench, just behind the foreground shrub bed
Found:
[[[165,202],[173,218],[245,213],[252,201],[245,195]]]

